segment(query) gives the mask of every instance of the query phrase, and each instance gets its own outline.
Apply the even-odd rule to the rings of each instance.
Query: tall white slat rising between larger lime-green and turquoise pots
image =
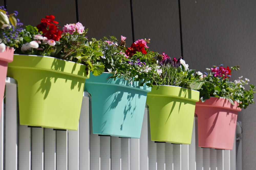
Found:
[[[79,118],[79,169],[90,170],[90,100],[85,92]]]

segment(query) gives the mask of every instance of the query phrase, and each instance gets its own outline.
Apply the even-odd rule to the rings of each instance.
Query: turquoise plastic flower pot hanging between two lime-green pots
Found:
[[[91,95],[92,132],[126,138],[140,138],[147,92],[151,87],[131,85],[111,73],[90,75],[84,90]]]

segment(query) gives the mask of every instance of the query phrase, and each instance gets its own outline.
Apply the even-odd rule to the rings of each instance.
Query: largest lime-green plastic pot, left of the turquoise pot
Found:
[[[14,55],[21,125],[77,130],[86,66],[53,57]]]

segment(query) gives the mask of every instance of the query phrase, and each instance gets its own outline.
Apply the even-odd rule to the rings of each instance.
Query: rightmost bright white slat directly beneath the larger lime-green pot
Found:
[[[68,169],[79,170],[79,128],[68,131]]]

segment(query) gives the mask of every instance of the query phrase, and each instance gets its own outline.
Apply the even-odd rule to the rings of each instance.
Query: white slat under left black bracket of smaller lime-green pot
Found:
[[[165,170],[165,143],[156,143],[157,170]]]

